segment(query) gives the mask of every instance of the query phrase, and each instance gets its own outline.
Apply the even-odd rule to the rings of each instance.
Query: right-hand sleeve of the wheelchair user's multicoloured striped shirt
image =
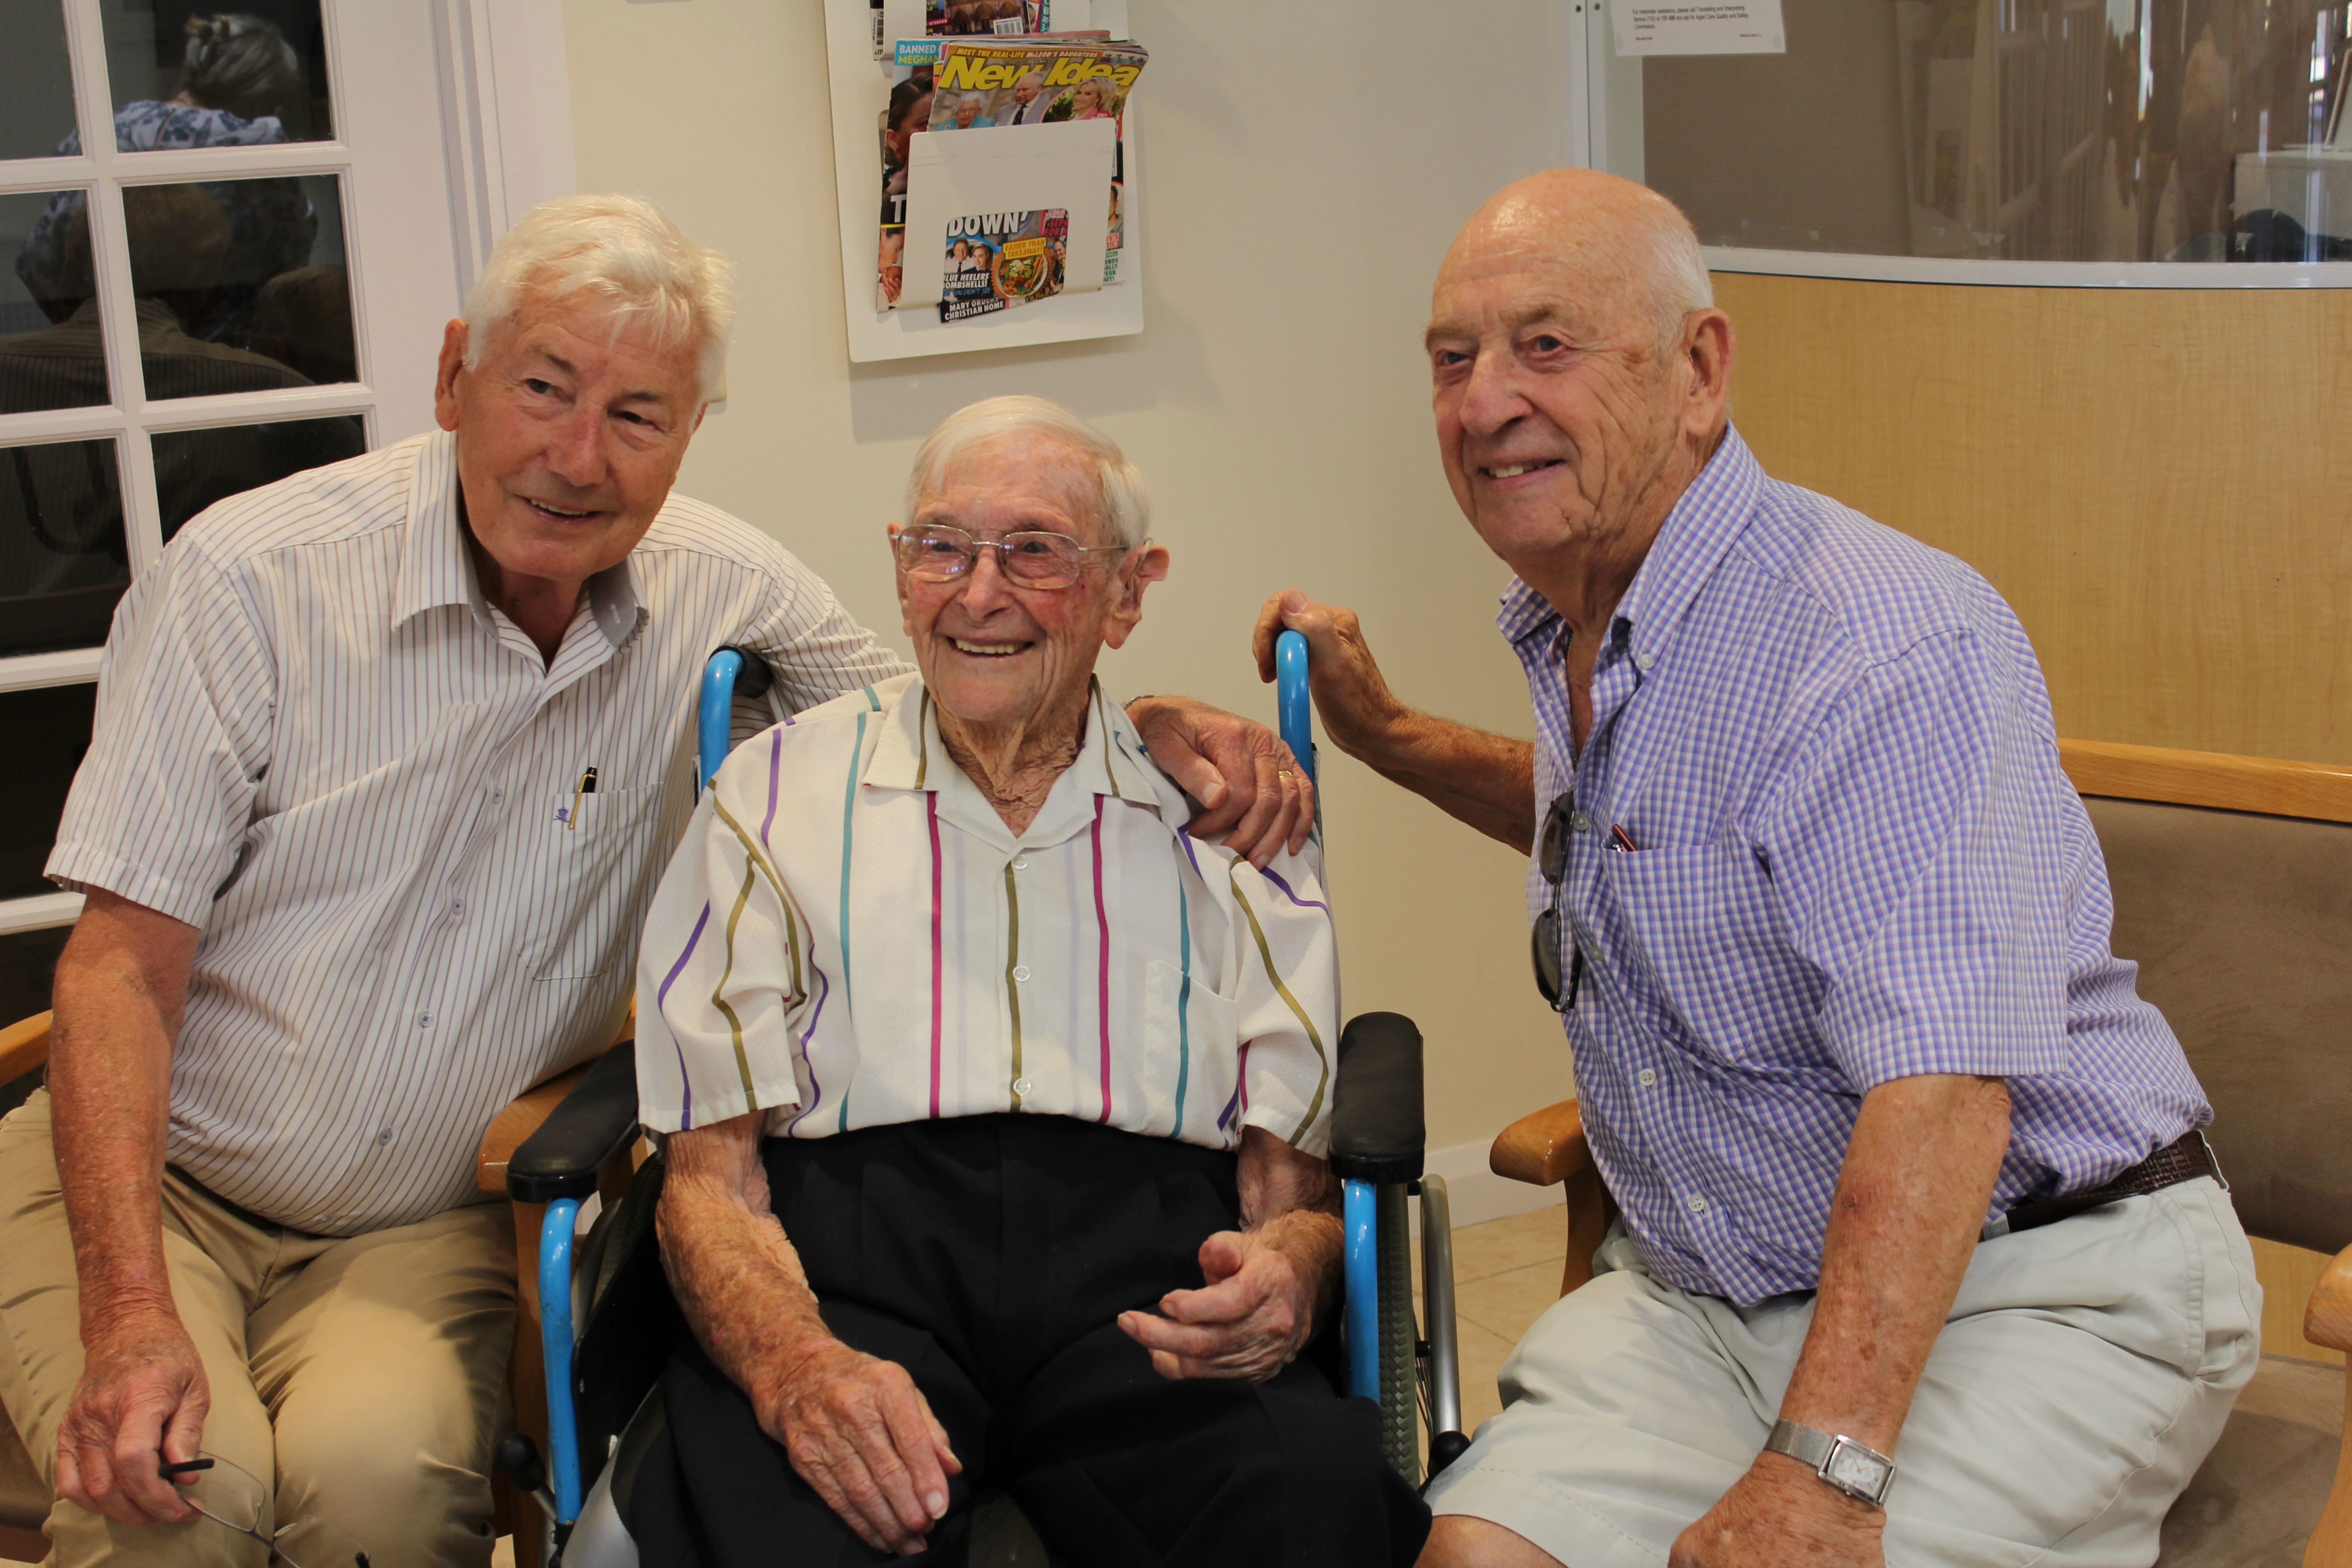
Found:
[[[1275,856],[1263,872],[1235,856],[1228,879],[1240,924],[1242,1124],[1324,1154],[1338,1063],[1338,943],[1315,849]]]

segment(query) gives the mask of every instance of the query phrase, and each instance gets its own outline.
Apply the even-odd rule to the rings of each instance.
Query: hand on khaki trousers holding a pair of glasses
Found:
[[[195,1458],[209,1410],[205,1363],[169,1307],[94,1326],[82,1342],[82,1380],[56,1429],[56,1493],[115,1523],[195,1519],[162,1467]]]

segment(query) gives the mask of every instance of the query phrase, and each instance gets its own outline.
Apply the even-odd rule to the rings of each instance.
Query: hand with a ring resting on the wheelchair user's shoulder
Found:
[[[1152,762],[1202,804],[1188,823],[1197,839],[1218,839],[1251,865],[1305,849],[1315,830],[1315,785],[1282,736],[1254,719],[1183,696],[1143,696],[1127,717]]]

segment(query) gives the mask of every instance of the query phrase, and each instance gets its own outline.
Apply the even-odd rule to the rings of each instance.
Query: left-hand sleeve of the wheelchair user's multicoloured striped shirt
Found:
[[[800,1103],[804,933],[743,827],[755,773],[736,752],[703,790],[637,945],[637,1114],[661,1133]]]

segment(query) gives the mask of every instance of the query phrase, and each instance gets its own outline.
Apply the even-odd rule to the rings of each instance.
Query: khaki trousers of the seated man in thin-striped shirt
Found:
[[[202,1446],[275,1486],[275,1526],[320,1516],[374,1568],[489,1563],[489,1453],[515,1333],[506,1206],[306,1237],[167,1171],[162,1244],[212,1385]],[[78,1298],[40,1091],[0,1121],[0,1403],[52,1488],[82,1375]],[[209,1519],[134,1528],[59,1500],[47,1528],[61,1568],[268,1561]]]

